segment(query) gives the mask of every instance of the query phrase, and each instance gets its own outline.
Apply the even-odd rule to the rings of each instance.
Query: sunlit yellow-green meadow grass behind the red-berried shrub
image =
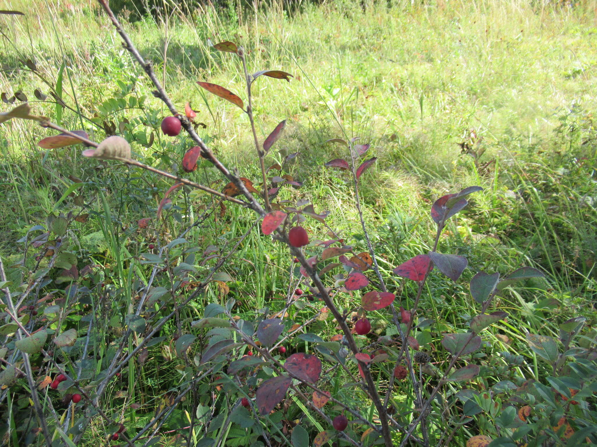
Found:
[[[192,18],[146,18],[126,27],[143,55],[155,63],[177,107],[182,110],[191,101],[198,110],[198,119],[207,125],[199,133],[208,145],[227,166],[238,167],[256,183],[260,174],[247,117],[225,101],[206,96],[196,85],[197,80],[207,80],[244,97],[238,60],[210,49],[207,39],[244,46],[253,72],[293,73],[290,83],[261,77],[254,90],[260,138],[280,120],[289,119],[268,165],[282,164],[288,154],[300,153],[288,163],[287,173],[304,185],[284,191],[280,198],[306,198],[316,210],[330,210],[327,224],[359,250],[366,250],[366,244],[349,178],[323,166],[346,152],[325,140],[359,136],[361,142],[370,143],[377,163],[361,182],[365,220],[389,286],[392,291],[404,287],[401,303],[407,308],[416,287],[404,285],[391,270],[432,246],[435,228],[429,219],[430,205],[459,188],[484,187],[450,223],[439,243],[439,252],[467,256],[470,268],[458,284],[439,275],[430,280],[421,309],[435,325],[433,330],[420,331],[420,341],[429,335],[432,344],[421,344],[432,350],[442,333],[466,328],[478,306],[460,284],[475,272],[506,274],[522,265],[535,266],[547,275],[547,283],[530,284],[533,287],[512,291],[500,300],[497,307],[510,313],[510,318],[503,327],[484,334],[490,345],[485,354],[491,359],[504,350],[522,354],[525,362],[516,368],[517,377],[543,377],[544,365],[528,349],[526,331],[557,337],[559,322],[580,315],[587,317],[589,325],[597,323],[593,308],[597,295],[595,2],[574,7],[522,0],[390,3],[392,8],[386,2],[371,2],[365,9],[348,0],[319,7],[305,4],[294,14],[278,2],[245,13],[230,8],[219,14],[205,8]],[[118,35],[93,1],[35,5],[0,1],[0,8],[27,11],[25,17],[0,17],[5,33],[0,91],[8,97],[22,91],[36,113],[66,128],[84,128],[96,141],[105,137],[106,125],[118,131],[120,123],[128,120],[122,133],[133,142],[140,159],[162,169],[178,169],[189,139],[161,135],[159,122],[167,110],[152,97],[149,80],[122,49]],[[35,73],[26,69],[27,59],[35,61]],[[51,96],[47,101],[33,99],[35,89],[49,95],[48,84],[67,107],[51,103]],[[143,147],[152,132],[152,147]],[[77,194],[88,204],[90,219],[76,224],[69,237],[79,268],[101,265],[102,281],[115,285],[113,304],[104,315],[120,318],[133,309],[139,286],[134,281],[144,283],[149,276],[147,265],[139,262],[140,253],[149,250],[149,243],[174,239],[209,209],[211,201],[201,194],[177,192],[163,223],[137,230],[138,219],[155,216],[171,184],[150,173],[82,159],[79,146],[40,150],[36,143],[48,135],[52,133],[47,129],[15,120],[0,128],[4,196],[0,256],[6,265],[16,264],[23,257],[23,243],[17,241],[33,225],[43,224],[51,212],[75,209],[72,198],[54,208],[73,182],[69,176],[83,179]],[[210,167],[201,167],[189,178],[223,187]],[[228,206],[223,215],[192,229],[186,235],[188,246],[202,251],[214,245],[223,250],[253,222],[251,213]],[[312,238],[328,238],[327,229],[316,221],[308,219],[304,225]],[[27,271],[12,268],[8,274],[20,279],[34,265],[29,259]],[[229,283],[230,296],[240,303],[238,312],[247,318],[266,306],[271,312],[279,311],[283,300],[277,298],[294,287],[289,284],[290,265],[281,246],[257,229],[251,232],[224,268],[235,280]],[[64,286],[53,287],[53,293],[64,294]],[[98,297],[92,294],[92,299]],[[218,300],[224,297],[216,287],[210,288],[204,299],[193,302],[162,333],[170,337],[176,325],[186,327],[187,321],[202,316],[205,303]],[[342,303],[348,305],[349,297],[342,297]],[[289,318],[299,321],[313,315],[309,306],[291,312]],[[110,320],[108,339],[122,333],[124,323],[119,318],[113,325]],[[380,333],[386,320],[384,313],[376,318]],[[326,338],[336,330],[328,320],[315,322],[309,331]],[[421,335],[424,332],[429,334]],[[509,342],[497,337],[500,334]],[[143,426],[162,405],[165,393],[185,380],[175,372],[181,362],[173,355],[174,347],[166,346],[150,349],[141,364],[131,362],[122,381],[111,385],[112,396],[127,388],[127,396],[113,398],[106,406],[127,417],[130,427]],[[101,355],[107,358],[107,352]],[[436,355],[441,365],[445,353]],[[331,381],[333,390],[353,399],[341,388],[346,381],[342,374],[339,371]],[[499,379],[484,380],[491,386]],[[201,405],[211,405],[208,389],[199,399]],[[396,402],[408,402],[408,392],[403,392]],[[140,403],[141,409],[131,410],[131,402]],[[218,402],[225,408],[233,399]],[[164,429],[188,425],[184,411],[195,409],[184,403]],[[315,424],[308,426],[315,430]],[[477,431],[479,427],[461,427],[453,442],[464,445]],[[105,433],[107,427],[96,421],[84,440],[93,443]],[[246,442],[240,433],[229,433],[227,445]]]

